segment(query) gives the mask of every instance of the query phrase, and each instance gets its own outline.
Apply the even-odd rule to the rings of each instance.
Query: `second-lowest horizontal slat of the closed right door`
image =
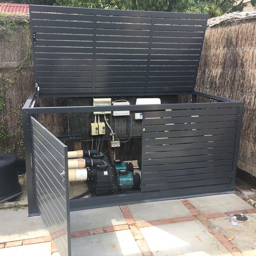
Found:
[[[157,177],[157,184],[166,184],[166,183],[173,183],[173,182],[186,182],[187,181],[186,176],[176,176],[176,177],[163,177],[159,178]],[[189,176],[189,181],[201,181],[205,179],[218,179],[218,178],[230,178],[230,172],[225,171],[222,173],[209,173],[209,174],[195,174]],[[145,179],[144,185],[153,185],[155,184],[156,179]],[[199,183],[200,185],[200,183]]]

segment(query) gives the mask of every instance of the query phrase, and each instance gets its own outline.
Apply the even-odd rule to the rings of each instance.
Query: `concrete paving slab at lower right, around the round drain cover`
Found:
[[[221,217],[210,219],[213,225],[221,229],[221,232],[227,239],[232,238],[232,243],[245,256],[256,255],[256,216],[253,214],[246,214],[251,219],[250,222],[239,222],[240,226],[231,226],[229,217]]]

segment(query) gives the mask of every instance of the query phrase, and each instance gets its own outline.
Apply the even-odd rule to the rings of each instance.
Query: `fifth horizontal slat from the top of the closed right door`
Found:
[[[161,144],[181,144],[193,142],[209,142],[209,141],[233,141],[234,135],[213,135],[213,136],[197,136],[185,138],[164,138],[164,139],[149,139],[144,141],[144,145],[161,145]]]

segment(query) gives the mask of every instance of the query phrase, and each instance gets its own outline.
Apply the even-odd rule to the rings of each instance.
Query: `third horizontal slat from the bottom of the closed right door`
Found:
[[[231,166],[217,166],[217,167],[202,167],[202,168],[192,168],[192,169],[181,169],[181,170],[171,170],[171,171],[153,171],[151,173],[144,173],[143,177],[145,179],[152,178],[163,178],[163,177],[176,177],[184,175],[184,177],[189,178],[187,175],[192,174],[203,174],[203,173],[221,173],[231,171]]]

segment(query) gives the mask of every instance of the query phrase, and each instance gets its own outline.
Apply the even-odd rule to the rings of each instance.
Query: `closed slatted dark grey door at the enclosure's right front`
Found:
[[[238,108],[214,104],[144,112],[142,192],[230,186]]]

